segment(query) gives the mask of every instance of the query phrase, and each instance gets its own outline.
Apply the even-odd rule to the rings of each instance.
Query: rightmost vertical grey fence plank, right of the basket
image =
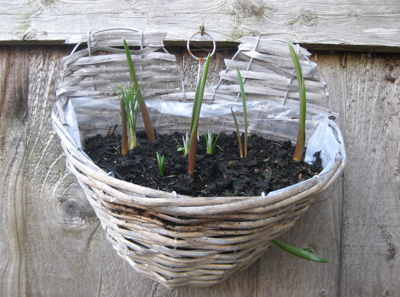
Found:
[[[340,295],[400,294],[400,56],[348,53]]]

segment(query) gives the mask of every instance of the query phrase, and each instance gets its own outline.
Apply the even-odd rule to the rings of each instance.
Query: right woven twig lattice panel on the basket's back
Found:
[[[245,92],[252,94],[252,98],[275,101],[280,98],[283,104],[288,98],[298,99],[296,74],[286,41],[260,36],[236,41],[241,42],[238,51],[232,59],[225,59],[226,69],[220,72],[220,82],[228,80],[231,84],[220,85],[219,82],[215,87],[216,97],[237,99],[239,85],[236,68],[239,68]],[[298,45],[295,50],[303,69],[307,99],[327,102],[326,83],[318,74],[316,63],[308,59],[310,53]]]

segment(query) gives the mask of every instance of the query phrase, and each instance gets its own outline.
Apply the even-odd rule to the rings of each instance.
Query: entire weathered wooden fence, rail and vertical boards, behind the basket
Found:
[[[285,6],[186,2],[170,1],[163,11],[158,1],[0,3],[1,295],[400,295],[400,5],[394,0]],[[59,59],[71,48],[54,43],[89,28],[167,28],[172,32],[167,49],[193,88],[196,63],[178,45],[197,30],[201,17],[217,41],[264,33],[302,42],[314,53],[311,60],[328,84],[330,104],[339,110],[348,164],[280,240],[313,246],[328,263],[308,262],[272,246],[218,285],[168,290],[116,255],[65,168],[49,115]],[[223,57],[231,57],[235,46],[218,43],[209,83],[217,82]],[[324,50],[327,46],[335,50]]]

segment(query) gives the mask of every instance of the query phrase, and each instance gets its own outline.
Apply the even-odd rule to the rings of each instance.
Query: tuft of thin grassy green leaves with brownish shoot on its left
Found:
[[[143,84],[134,92],[133,87],[125,87],[119,84],[120,94],[119,102],[121,106],[122,118],[122,147],[126,141],[126,151],[123,149],[122,154],[125,155],[127,150],[137,145],[136,140],[136,118],[139,111],[139,104],[143,99],[146,90],[143,91]],[[122,110],[124,112],[122,112]],[[125,125],[125,127],[124,127]],[[127,133],[126,133],[127,130]],[[127,139],[127,140],[126,140]]]

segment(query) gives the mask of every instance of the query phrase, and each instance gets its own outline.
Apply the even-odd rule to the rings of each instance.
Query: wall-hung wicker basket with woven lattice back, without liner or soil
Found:
[[[327,172],[268,195],[190,197],[113,178],[81,153],[65,125],[64,108],[71,97],[112,100],[112,88],[115,88],[116,82],[129,81],[120,47],[122,36],[130,45],[141,46],[132,51],[135,67],[141,67],[137,76],[162,82],[152,84],[158,88],[149,89],[147,93],[150,96],[167,100],[179,98],[182,101],[186,97],[190,100],[192,96],[182,92],[183,77],[178,72],[174,57],[162,47],[162,34],[107,30],[71,39],[70,42],[88,42],[88,48],[74,50],[63,59],[65,69],[62,75],[65,79],[59,86],[58,94],[61,96],[51,114],[53,127],[65,151],[66,166],[77,177],[105,229],[107,239],[135,270],[169,288],[217,283],[254,262],[270,245],[270,240],[288,230],[308,208],[315,194],[324,190],[340,174],[346,162],[340,130],[334,122],[330,122],[340,146]],[[234,57],[226,60],[227,69],[221,71],[221,78],[234,80],[230,69],[238,65],[247,78],[245,87],[251,89],[249,99],[278,98],[285,100],[286,104],[295,105],[297,86],[292,83],[294,74],[288,65],[288,49],[283,49],[287,44],[254,38],[239,40],[243,43],[235,57],[241,59],[234,60]],[[159,49],[163,51],[154,51]],[[93,55],[96,50],[106,51],[107,54]],[[300,50],[302,54],[307,54],[304,49]],[[308,79],[307,91],[311,89],[313,92],[310,97],[326,100],[325,85],[317,74],[315,64],[307,62],[303,67]],[[266,84],[260,82],[262,77],[259,76],[266,79]],[[252,83],[252,80],[255,82]],[[274,84],[270,85],[271,81]],[[180,84],[181,88],[165,88],[166,82],[174,83],[174,87]],[[276,89],[275,85],[284,87]],[[218,83],[209,89],[206,99],[235,100],[237,91],[235,84]],[[308,105],[308,111],[329,113],[327,108],[312,104]],[[167,117],[154,118],[157,131],[176,129]],[[213,122],[216,127],[224,124],[225,130],[234,131],[234,125],[227,121],[220,116]],[[189,125],[187,118],[179,119],[179,122],[183,128]],[[287,120],[285,124],[296,129],[297,121]],[[109,125],[103,126],[108,128]],[[98,127],[95,118],[91,127]],[[284,131],[280,134],[271,132],[261,124],[255,128],[273,138],[293,137],[285,135]]]

